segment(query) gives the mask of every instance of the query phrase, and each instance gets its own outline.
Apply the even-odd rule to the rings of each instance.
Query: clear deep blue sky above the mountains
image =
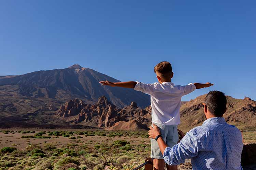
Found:
[[[79,64],[121,81],[156,82],[160,61],[175,84],[212,82],[256,100],[256,1],[0,2],[0,75]]]

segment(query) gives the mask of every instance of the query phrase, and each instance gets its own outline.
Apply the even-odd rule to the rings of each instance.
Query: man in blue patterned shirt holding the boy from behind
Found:
[[[148,135],[157,140],[165,162],[179,165],[185,159],[191,159],[193,170],[242,170],[242,135],[235,126],[225,122],[226,104],[223,92],[210,91],[203,103],[207,120],[186,133],[172,148],[166,145],[156,125],[150,127]]]

